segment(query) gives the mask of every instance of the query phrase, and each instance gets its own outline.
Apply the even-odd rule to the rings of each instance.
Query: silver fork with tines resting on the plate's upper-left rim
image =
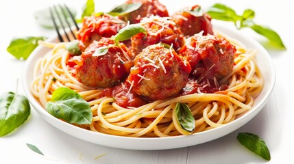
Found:
[[[61,12],[58,12],[58,8],[59,8],[59,11],[61,11]],[[62,5],[58,4],[58,6],[53,5],[53,7],[49,8],[49,11],[50,11],[50,15],[51,15],[51,19],[52,19],[54,28],[56,29],[56,33],[58,35],[58,39],[60,40],[60,42],[70,42],[71,38],[76,40],[77,38],[75,37],[75,33],[74,33],[72,27],[73,27],[73,25],[75,25],[76,31],[79,30],[79,27],[77,26],[77,23],[75,22],[75,18],[73,17],[71,10],[69,10],[69,8],[65,4],[64,4],[64,8],[62,8]],[[62,16],[60,16],[60,14],[62,14]],[[71,18],[71,23],[67,19],[68,17]],[[57,20],[58,20],[58,22],[57,22]],[[60,33],[60,27],[58,26],[58,24],[60,25],[60,27],[62,27],[64,36],[66,36],[67,40],[64,40],[64,38],[62,37],[62,35]],[[69,36],[69,32],[66,31],[66,26],[69,28],[69,31],[71,33],[71,37]]]

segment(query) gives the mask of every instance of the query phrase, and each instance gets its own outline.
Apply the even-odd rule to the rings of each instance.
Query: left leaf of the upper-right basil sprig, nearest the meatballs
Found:
[[[241,19],[241,16],[238,16],[232,8],[221,3],[212,5],[206,12],[210,14],[211,18],[218,20],[225,20],[236,23]]]

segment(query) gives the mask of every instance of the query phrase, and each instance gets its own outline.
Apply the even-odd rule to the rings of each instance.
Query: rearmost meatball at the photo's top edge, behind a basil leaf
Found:
[[[157,15],[161,17],[169,16],[167,8],[158,0],[127,0],[125,3],[142,3],[140,8],[123,16],[125,21],[130,21],[131,24],[140,23],[142,18],[149,17],[151,15]]]

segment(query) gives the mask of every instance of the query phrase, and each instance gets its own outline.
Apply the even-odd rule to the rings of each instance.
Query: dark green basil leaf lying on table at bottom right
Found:
[[[267,144],[258,135],[252,133],[238,133],[238,141],[250,151],[258,154],[263,159],[271,160],[271,154]]]

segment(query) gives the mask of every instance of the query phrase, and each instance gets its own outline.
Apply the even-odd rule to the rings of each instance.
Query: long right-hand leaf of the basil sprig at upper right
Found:
[[[280,49],[286,49],[286,46],[284,46],[284,43],[282,42],[282,39],[280,38],[278,33],[273,31],[269,27],[256,25],[252,20],[244,21],[242,23],[242,27],[249,27],[256,31],[256,33],[259,33],[260,35],[265,36],[267,39],[269,39],[271,44],[273,44],[274,46],[277,46]]]

